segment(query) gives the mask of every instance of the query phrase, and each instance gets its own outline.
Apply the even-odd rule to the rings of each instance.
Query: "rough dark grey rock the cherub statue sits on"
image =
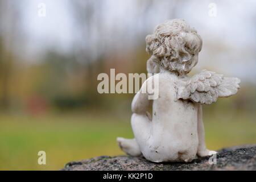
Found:
[[[209,157],[191,163],[152,163],[133,156],[98,156],[81,162],[70,162],[62,170],[256,170],[256,144],[223,148],[218,151],[217,164]]]

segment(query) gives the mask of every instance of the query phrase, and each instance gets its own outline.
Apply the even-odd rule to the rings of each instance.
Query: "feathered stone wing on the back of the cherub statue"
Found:
[[[177,82],[177,98],[192,100],[200,104],[212,104],[218,97],[229,97],[237,93],[240,79],[224,77],[207,70]]]

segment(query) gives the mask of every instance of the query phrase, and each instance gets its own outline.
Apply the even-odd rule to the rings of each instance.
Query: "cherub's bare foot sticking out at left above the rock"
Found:
[[[117,142],[122,151],[131,156],[140,156],[141,150],[135,139],[117,137]]]

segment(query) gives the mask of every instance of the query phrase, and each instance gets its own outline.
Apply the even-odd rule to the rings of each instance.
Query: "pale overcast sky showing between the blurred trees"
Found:
[[[46,5],[46,16],[38,16],[38,5]],[[137,21],[138,14],[134,9],[138,1],[104,1],[104,14],[106,32],[113,26],[125,25],[127,34],[133,35],[136,41],[136,32],[140,29],[146,34],[151,33],[156,24],[170,18],[170,1],[159,1],[158,5],[150,11],[150,21]],[[216,11],[213,10],[215,9]],[[195,27],[203,38],[203,50],[200,55],[198,69],[210,65],[210,67],[222,67],[225,71],[236,72],[236,76],[256,77],[255,47],[256,47],[256,1],[189,1],[186,5],[177,6],[175,18],[183,18],[192,27]],[[213,11],[212,11],[213,10]],[[70,1],[68,0],[26,0],[22,2],[23,29],[27,35],[28,53],[40,53],[44,48],[55,47],[60,51],[72,49],[76,37],[76,25]],[[109,29],[108,29],[109,28]],[[120,28],[120,31],[124,30]],[[101,36],[101,35],[99,35]],[[117,38],[116,39],[121,39]],[[220,53],[218,60],[209,57],[212,41],[227,44],[232,47],[232,52]],[[86,40],[85,40],[86,41]],[[110,41],[110,40],[109,40]],[[122,42],[121,40],[118,40]],[[243,55],[241,49],[247,49],[249,53]],[[222,55],[221,55],[222,54]],[[216,57],[214,57],[216,58]],[[236,60],[230,65],[230,61]],[[245,64],[246,63],[246,64]],[[221,64],[221,65],[218,65]],[[230,70],[230,71],[229,71]],[[255,82],[255,79],[251,81]]]

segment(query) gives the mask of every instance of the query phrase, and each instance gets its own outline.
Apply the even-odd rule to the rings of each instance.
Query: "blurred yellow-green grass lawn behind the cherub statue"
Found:
[[[256,143],[256,122],[245,114],[204,120],[209,149]],[[129,117],[0,115],[0,169],[57,170],[73,160],[123,154],[115,142],[118,136],[133,137]],[[46,165],[38,164],[41,150],[46,151]]]

